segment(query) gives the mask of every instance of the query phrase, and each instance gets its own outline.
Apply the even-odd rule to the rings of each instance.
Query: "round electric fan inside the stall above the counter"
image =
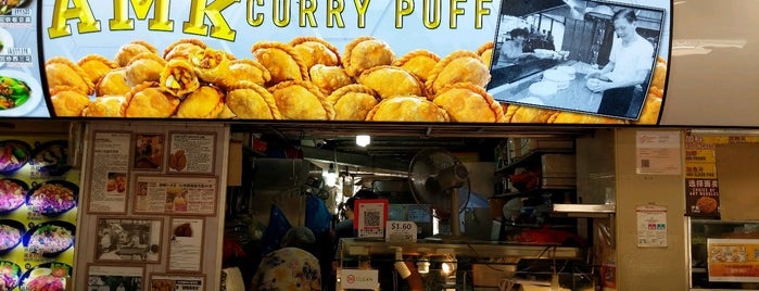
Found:
[[[458,217],[471,194],[467,167],[444,149],[423,149],[408,165],[408,181],[416,202],[432,205],[440,233],[460,237]]]

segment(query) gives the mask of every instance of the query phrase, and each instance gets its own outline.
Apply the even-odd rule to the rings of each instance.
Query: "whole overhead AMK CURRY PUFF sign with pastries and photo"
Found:
[[[671,3],[628,2],[39,1],[40,63],[54,117],[656,124]]]

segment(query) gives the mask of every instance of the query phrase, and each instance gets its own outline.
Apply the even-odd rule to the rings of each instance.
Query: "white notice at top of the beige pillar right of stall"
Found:
[[[635,137],[635,173],[644,175],[680,175],[680,131],[637,131]]]

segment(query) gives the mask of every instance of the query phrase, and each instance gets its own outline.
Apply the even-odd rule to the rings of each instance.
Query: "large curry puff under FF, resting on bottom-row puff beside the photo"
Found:
[[[469,81],[485,87],[490,81],[490,71],[477,53],[455,51],[440,60],[427,79],[427,91],[435,93],[445,85]]]

